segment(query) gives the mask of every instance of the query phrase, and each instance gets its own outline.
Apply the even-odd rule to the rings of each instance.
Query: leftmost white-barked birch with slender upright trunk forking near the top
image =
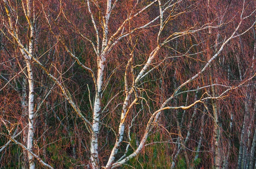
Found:
[[[12,7],[12,4],[10,2],[7,2],[6,0],[3,1],[4,3],[4,8],[6,10],[6,14],[9,20],[8,23],[3,23],[3,25],[8,24],[8,33],[12,35],[14,39],[16,39],[17,42],[20,42],[20,39],[18,37],[18,29],[14,25],[13,17],[11,16],[12,12],[15,12],[15,8]],[[28,121],[29,121],[29,127],[28,127],[28,134],[27,134],[27,149],[28,149],[28,159],[29,159],[29,169],[34,169],[35,168],[35,163],[33,161],[33,156],[31,155],[30,152],[32,152],[32,147],[33,147],[33,139],[34,139],[34,77],[33,77],[33,70],[32,70],[32,56],[35,51],[35,13],[33,12],[33,2],[27,1],[26,4],[22,1],[22,6],[23,6],[23,11],[25,13],[25,17],[27,20],[27,23],[29,25],[30,33],[29,33],[29,43],[28,47],[25,48],[24,46],[20,46],[20,52],[23,55],[25,62],[26,62],[26,77],[28,80],[28,88],[29,88],[29,95],[28,95],[28,100],[24,101],[28,103]],[[13,10],[13,11],[12,11]],[[16,11],[17,12],[17,11]],[[16,15],[16,19],[18,19],[18,16]],[[7,25],[6,25],[7,26]],[[3,32],[2,32],[3,33]],[[29,52],[30,55],[26,54],[26,51]],[[26,80],[26,79],[25,79]],[[24,81],[25,81],[24,80]],[[26,82],[23,82],[23,84]],[[25,87],[25,86],[24,86]],[[25,98],[24,98],[25,99]],[[23,103],[25,105],[25,103]]]

